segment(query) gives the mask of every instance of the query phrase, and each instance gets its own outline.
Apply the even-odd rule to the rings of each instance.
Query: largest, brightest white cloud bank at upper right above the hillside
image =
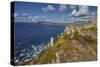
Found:
[[[88,21],[94,18],[96,13],[91,12],[88,6],[79,6],[79,10],[77,10],[77,8],[73,8],[69,16],[76,16],[75,18],[71,19],[74,21]]]

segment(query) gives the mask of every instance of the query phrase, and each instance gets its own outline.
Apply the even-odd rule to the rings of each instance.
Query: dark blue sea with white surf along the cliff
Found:
[[[64,25],[15,23],[15,63],[31,59],[50,41],[64,30]]]

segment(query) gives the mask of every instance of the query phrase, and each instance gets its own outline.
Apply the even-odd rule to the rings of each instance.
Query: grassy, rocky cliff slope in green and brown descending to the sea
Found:
[[[24,64],[66,63],[97,60],[97,21],[69,24],[36,58]],[[52,45],[51,45],[52,44]]]

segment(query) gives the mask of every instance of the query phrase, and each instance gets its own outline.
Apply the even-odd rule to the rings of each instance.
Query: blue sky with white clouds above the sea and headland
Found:
[[[15,22],[72,23],[88,21],[97,15],[96,6],[15,2],[14,7]]]

